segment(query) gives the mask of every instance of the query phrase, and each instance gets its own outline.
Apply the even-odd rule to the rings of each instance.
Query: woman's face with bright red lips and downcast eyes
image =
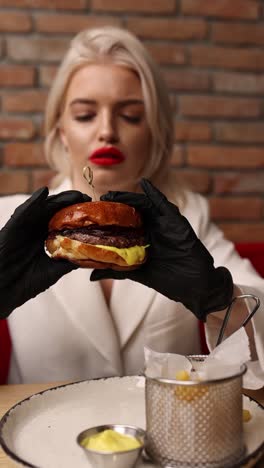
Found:
[[[75,189],[87,192],[82,174],[89,165],[98,195],[137,190],[151,148],[138,76],[115,64],[90,64],[78,70],[65,96],[60,134]]]

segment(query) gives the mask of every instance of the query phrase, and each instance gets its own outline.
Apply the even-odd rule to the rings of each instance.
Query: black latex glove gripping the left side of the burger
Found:
[[[48,194],[47,187],[34,192],[0,231],[0,318],[78,268],[67,260],[48,257],[44,241],[56,211],[91,198],[75,190]]]

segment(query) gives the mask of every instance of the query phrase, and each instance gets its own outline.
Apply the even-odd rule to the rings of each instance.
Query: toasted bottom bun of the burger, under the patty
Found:
[[[95,245],[85,244],[60,235],[47,239],[45,246],[52,258],[64,258],[81,268],[135,270],[146,260],[144,257],[143,261],[128,265],[120,255],[112,250],[98,248]]]

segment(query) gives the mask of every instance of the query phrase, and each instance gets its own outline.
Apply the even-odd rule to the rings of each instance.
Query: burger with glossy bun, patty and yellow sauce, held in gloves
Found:
[[[47,253],[83,268],[133,270],[146,260],[143,222],[124,203],[94,201],[70,205],[51,218]]]

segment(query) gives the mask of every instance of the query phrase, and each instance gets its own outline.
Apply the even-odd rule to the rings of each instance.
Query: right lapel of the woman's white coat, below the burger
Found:
[[[147,314],[156,291],[130,280],[114,281],[111,295],[111,313],[119,334],[121,349]]]

